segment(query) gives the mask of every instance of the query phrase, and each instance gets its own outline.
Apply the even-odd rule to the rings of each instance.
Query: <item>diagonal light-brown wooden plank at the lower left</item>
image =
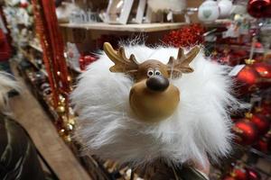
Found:
[[[17,76],[15,66],[16,64],[12,63],[14,73]],[[23,83],[23,78],[17,76],[17,80],[21,82],[23,92],[21,95],[10,99],[14,117],[27,130],[35,147],[41,152],[42,157],[51,166],[58,179],[91,180],[92,178],[84,167],[79,164],[78,157],[74,156],[59,136],[55,125],[51,122],[51,117],[43,111],[41,103]],[[29,81],[27,83],[27,85],[31,85]],[[33,88],[33,90],[36,90],[34,86]]]

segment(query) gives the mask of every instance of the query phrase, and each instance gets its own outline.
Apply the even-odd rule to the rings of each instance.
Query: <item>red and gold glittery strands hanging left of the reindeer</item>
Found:
[[[39,35],[43,61],[51,85],[52,106],[58,113],[57,128],[61,134],[67,135],[70,129],[69,99],[70,77],[64,58],[64,45],[55,14],[55,5],[52,0],[33,0],[33,13],[36,31]],[[70,124],[71,123],[71,124]],[[72,129],[72,128],[71,128]]]

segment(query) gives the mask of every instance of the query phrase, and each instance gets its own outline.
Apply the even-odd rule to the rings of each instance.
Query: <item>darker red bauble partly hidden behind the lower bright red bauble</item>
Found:
[[[252,115],[252,118],[250,119],[251,122],[253,122],[257,126],[258,134],[263,135],[266,134],[266,132],[270,128],[270,122],[265,115],[261,113],[255,113]]]

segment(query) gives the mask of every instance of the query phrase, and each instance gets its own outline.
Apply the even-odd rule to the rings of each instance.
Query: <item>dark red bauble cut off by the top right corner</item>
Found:
[[[248,14],[256,18],[270,17],[271,0],[249,0]]]

